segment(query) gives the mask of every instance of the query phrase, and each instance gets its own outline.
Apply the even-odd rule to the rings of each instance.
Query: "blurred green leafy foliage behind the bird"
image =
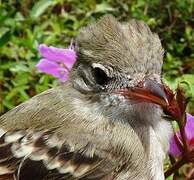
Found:
[[[194,0],[1,0],[0,114],[58,84],[36,70],[38,44],[67,47],[104,14],[141,19],[159,34],[165,82],[181,83],[194,114]]]

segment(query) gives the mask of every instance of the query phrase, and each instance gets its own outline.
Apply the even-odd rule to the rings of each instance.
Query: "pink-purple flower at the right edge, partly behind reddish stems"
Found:
[[[187,144],[189,146],[189,149],[193,149],[194,148],[194,116],[192,116],[190,114],[187,114],[187,122],[186,122],[186,125],[185,125],[185,133],[186,133]],[[181,142],[180,131],[176,132],[176,135],[177,135],[178,139]],[[172,137],[171,140],[170,140],[169,153],[174,157],[178,157],[178,156],[181,155],[181,150],[177,146],[175,137]]]

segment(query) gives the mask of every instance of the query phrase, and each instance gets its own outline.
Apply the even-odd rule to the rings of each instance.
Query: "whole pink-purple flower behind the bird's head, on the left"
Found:
[[[42,56],[36,65],[38,70],[58,78],[61,82],[67,81],[77,58],[74,47],[70,45],[70,48],[63,49],[40,44],[38,49]]]

